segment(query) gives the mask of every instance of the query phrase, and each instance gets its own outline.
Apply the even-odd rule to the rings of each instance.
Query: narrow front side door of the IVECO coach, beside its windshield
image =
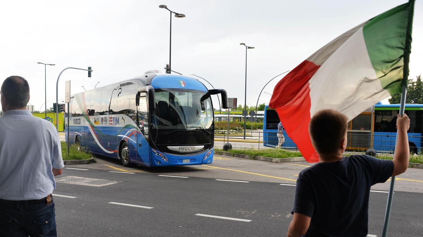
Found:
[[[147,98],[140,97],[140,104],[137,106],[137,161],[145,166],[150,166],[149,137],[149,116]]]

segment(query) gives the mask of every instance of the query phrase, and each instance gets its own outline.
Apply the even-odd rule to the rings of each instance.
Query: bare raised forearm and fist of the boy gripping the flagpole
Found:
[[[397,116],[398,118],[396,126],[398,129],[398,137],[393,158],[394,171],[392,176],[404,173],[407,170],[410,158],[410,149],[407,136],[407,131],[410,128],[410,118],[405,113],[402,117],[400,114],[398,114]]]

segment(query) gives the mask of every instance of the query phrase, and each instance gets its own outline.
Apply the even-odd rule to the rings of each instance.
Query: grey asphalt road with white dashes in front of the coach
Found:
[[[216,156],[210,166],[165,169],[126,168],[102,157],[97,161],[66,166],[57,178],[119,183],[101,187],[57,183],[54,194],[68,196],[54,197],[59,236],[286,236],[295,175],[310,165],[228,156]],[[399,176],[403,179],[396,183],[388,236],[423,233],[422,173],[409,169]],[[382,234],[388,185],[372,187],[378,192],[370,196],[371,235]]]

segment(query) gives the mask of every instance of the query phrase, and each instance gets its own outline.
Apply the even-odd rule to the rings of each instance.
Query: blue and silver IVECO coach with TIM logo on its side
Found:
[[[213,94],[221,94],[222,107],[228,108],[225,90],[160,73],[74,94],[69,141],[93,154],[121,159],[126,167],[211,164]],[[67,141],[67,126],[65,134]]]

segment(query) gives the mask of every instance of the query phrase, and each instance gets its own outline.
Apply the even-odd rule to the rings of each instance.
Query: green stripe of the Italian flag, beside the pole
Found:
[[[391,95],[401,93],[407,26],[412,12],[409,8],[409,3],[399,5],[370,19],[363,27],[370,61],[382,88]]]

